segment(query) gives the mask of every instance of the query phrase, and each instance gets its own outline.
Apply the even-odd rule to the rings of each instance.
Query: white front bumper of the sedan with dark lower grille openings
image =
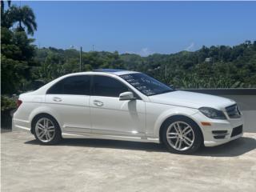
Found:
[[[242,118],[211,119],[200,112],[193,118],[202,130],[205,146],[218,146],[242,137]],[[210,122],[210,126],[202,126],[202,122]]]

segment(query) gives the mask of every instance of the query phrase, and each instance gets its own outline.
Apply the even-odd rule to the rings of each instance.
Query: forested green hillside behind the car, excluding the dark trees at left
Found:
[[[34,78],[43,82],[79,70],[77,50],[37,49],[35,60],[39,65]],[[148,57],[118,52],[82,53],[82,71],[98,68],[142,71],[179,88],[256,87],[256,42],[234,47],[203,46],[194,52]]]

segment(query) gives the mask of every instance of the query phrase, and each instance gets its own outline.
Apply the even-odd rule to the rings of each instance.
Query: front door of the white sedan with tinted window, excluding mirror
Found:
[[[92,133],[143,136],[145,102],[141,99],[119,101],[119,94],[130,91],[118,79],[94,75],[90,113]]]

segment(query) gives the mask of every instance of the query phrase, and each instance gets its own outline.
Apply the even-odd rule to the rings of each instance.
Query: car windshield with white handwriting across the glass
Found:
[[[169,86],[158,82],[158,80],[146,74],[123,74],[119,77],[126,80],[126,82],[130,83],[131,86],[134,86],[137,90],[142,92],[142,94],[146,94],[146,96],[173,91]]]

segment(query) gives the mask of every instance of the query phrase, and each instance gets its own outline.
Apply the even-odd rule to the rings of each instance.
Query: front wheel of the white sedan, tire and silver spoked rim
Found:
[[[197,123],[184,116],[168,119],[161,137],[167,149],[174,154],[192,154],[202,146],[203,140]]]

